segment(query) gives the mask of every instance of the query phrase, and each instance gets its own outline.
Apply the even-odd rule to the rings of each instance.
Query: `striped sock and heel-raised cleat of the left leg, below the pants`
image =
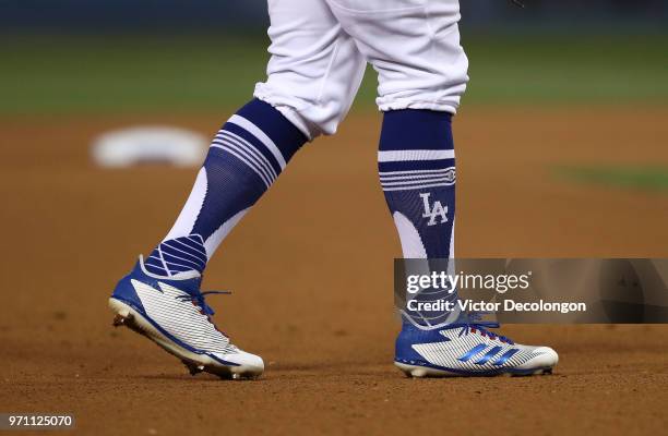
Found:
[[[218,244],[270,187],[307,137],[271,105],[254,99],[213,140],[172,229],[116,286],[109,306],[127,325],[177,355],[192,374],[257,377],[260,356],[216,328],[200,291]]]

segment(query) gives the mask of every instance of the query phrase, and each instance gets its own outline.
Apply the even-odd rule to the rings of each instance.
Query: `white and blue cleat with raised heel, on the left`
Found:
[[[257,378],[264,371],[258,355],[234,346],[213,324],[213,310],[200,292],[198,271],[162,277],[148,272],[140,256],[134,269],[123,277],[109,307],[114,326],[126,326],[176,355],[191,375],[201,372],[222,378]]]

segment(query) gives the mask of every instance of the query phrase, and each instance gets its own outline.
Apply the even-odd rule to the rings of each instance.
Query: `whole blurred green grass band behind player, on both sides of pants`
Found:
[[[668,37],[464,38],[466,105],[668,104]],[[266,40],[3,37],[0,114],[207,111],[248,100]],[[373,107],[369,69],[357,107]]]

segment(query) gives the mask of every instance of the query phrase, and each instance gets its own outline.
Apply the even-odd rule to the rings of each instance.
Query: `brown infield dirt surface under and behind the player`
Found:
[[[667,326],[508,326],[552,376],[408,379],[392,365],[398,241],[375,174],[380,117],[305,148],[212,261],[218,325],[267,364],[191,377],[112,329],[116,280],[164,235],[195,169],[100,170],[92,137],[202,117],[0,121],[0,411],[71,412],[87,434],[659,434]],[[468,109],[455,122],[460,256],[668,256],[668,195],[584,186],[554,165],[668,161],[668,110]]]

